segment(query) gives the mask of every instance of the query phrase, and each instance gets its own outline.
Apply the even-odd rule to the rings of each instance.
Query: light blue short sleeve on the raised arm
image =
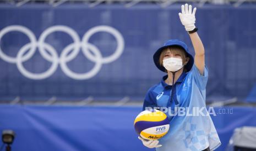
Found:
[[[192,75],[194,77],[195,83],[197,84],[198,88],[200,90],[205,90],[206,84],[208,81],[208,68],[205,66],[204,74],[201,75],[197,66],[193,65],[191,72],[192,72]]]

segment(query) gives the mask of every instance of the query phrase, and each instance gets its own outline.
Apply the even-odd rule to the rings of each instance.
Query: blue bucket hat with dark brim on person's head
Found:
[[[154,59],[156,67],[159,68],[163,72],[166,71],[165,67],[160,65],[159,58],[162,53],[162,50],[164,50],[165,48],[170,47],[170,46],[178,46],[178,47],[181,47],[183,50],[185,50],[187,57],[189,57],[189,61],[188,61],[187,65],[185,66],[185,68],[187,69],[187,71],[190,71],[190,69],[192,68],[192,66],[194,64],[194,57],[189,53],[187,45],[178,39],[168,40],[161,48],[159,48],[155,52],[153,59]]]

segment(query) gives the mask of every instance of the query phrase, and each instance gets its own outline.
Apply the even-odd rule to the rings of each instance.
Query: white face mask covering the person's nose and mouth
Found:
[[[182,59],[175,57],[170,57],[168,59],[163,60],[163,65],[165,69],[171,72],[176,72],[183,67]]]

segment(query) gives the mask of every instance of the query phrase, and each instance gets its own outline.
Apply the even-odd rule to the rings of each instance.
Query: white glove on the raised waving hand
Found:
[[[197,8],[193,9],[192,5],[185,4],[181,5],[181,13],[179,13],[179,19],[181,19],[182,25],[185,26],[186,31],[192,31],[195,28],[195,11]]]

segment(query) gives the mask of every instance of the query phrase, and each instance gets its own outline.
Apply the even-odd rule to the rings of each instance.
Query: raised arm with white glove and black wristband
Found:
[[[185,26],[186,31],[193,32],[189,33],[189,37],[192,41],[194,50],[195,50],[195,66],[199,69],[201,75],[204,74],[204,66],[205,66],[205,59],[204,59],[204,45],[201,42],[198,33],[196,32],[197,29],[195,28],[195,11],[197,8],[193,9],[192,12],[192,5],[185,4],[181,6],[181,12],[179,13],[179,19],[181,19],[182,25]]]

